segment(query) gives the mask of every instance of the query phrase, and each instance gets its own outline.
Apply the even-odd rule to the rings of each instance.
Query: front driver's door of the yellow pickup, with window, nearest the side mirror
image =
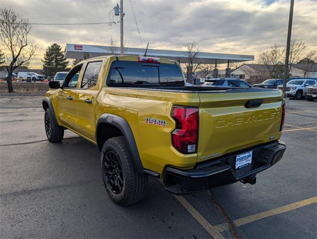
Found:
[[[73,99],[77,88],[78,78],[83,65],[73,68],[66,76],[62,89],[58,92],[58,117],[62,123],[73,128],[76,118]]]

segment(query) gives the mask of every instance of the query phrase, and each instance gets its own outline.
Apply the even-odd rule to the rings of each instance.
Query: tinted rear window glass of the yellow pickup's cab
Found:
[[[176,64],[117,60],[111,64],[107,85],[184,86],[184,78],[180,67]]]

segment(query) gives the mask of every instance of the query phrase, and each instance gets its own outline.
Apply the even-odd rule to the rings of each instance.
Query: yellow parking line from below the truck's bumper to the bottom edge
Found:
[[[161,180],[160,183],[163,184]],[[163,184],[164,185],[164,184]],[[220,231],[211,226],[210,223],[192,206],[190,203],[183,197],[172,194],[179,202],[183,205],[183,207],[196,219],[196,221],[203,227],[205,230],[213,237],[214,239],[224,239],[221,235]]]

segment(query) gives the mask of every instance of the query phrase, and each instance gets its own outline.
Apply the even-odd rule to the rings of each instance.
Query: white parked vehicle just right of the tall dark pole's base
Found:
[[[286,91],[285,94],[288,97],[294,97],[296,100],[302,99],[303,96],[306,95],[307,86],[317,84],[317,80],[312,79],[296,79],[290,80],[286,84]],[[283,85],[277,86],[277,89],[282,90]]]

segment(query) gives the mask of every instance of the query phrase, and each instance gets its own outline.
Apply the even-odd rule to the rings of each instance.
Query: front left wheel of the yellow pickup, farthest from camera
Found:
[[[49,123],[49,125],[48,125]],[[59,126],[53,119],[51,110],[48,108],[44,115],[44,127],[46,136],[50,142],[60,142],[64,137],[64,128]],[[50,128],[50,130],[49,130]]]

